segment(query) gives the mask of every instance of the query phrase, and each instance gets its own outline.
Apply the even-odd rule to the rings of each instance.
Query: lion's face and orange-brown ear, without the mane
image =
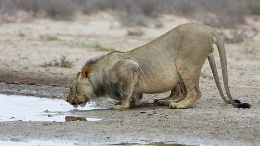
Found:
[[[70,92],[67,95],[66,101],[73,105],[84,107],[86,103],[95,96],[92,84],[88,80],[90,73],[89,67],[84,67],[81,72],[77,73],[76,80],[70,85]]]

